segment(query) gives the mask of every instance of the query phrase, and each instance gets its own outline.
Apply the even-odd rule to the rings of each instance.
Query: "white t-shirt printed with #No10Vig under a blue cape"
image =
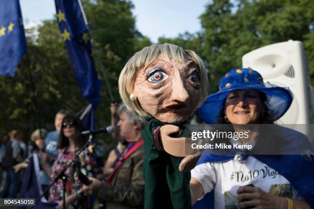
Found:
[[[303,200],[277,171],[252,156],[244,161],[240,158],[235,155],[233,160],[207,162],[191,170],[191,176],[202,184],[204,194],[214,189],[214,208],[239,208],[237,190],[249,184],[276,196]]]

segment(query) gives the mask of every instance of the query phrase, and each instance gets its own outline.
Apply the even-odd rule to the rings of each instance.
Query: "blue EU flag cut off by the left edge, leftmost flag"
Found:
[[[13,76],[26,52],[26,38],[18,0],[0,0],[0,75]]]

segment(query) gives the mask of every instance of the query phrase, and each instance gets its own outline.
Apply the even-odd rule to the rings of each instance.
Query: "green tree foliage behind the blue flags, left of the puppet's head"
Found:
[[[95,117],[96,125],[103,127],[110,123],[111,101],[103,72],[107,74],[114,99],[119,102],[117,77],[125,60],[151,42],[135,29],[130,1],[82,3],[91,29],[96,70],[103,83],[102,101]],[[27,137],[38,126],[51,130],[59,109],[77,113],[88,105],[78,87],[56,20],[45,20],[38,28],[27,30],[26,35],[28,52],[15,76],[0,77],[0,94],[4,101],[0,103],[2,135],[19,129]]]

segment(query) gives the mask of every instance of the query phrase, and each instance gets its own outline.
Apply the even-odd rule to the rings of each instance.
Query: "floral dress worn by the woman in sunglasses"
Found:
[[[57,159],[52,165],[52,171],[50,178],[53,180],[65,166],[73,160],[75,157],[74,151],[68,151],[67,149],[62,149],[58,152]],[[88,150],[83,151],[79,156],[81,162],[81,172],[88,176],[92,177],[94,175],[93,169],[95,168],[95,158],[93,154]],[[77,175],[73,170],[73,164],[65,172],[66,175],[66,197],[71,194],[80,194],[78,201],[74,202],[74,205],[81,205],[82,208],[88,208],[88,198],[87,193],[82,191],[83,183],[77,179]],[[58,179],[50,189],[49,201],[61,201],[63,199],[63,182],[62,179]],[[84,206],[86,205],[86,207]]]

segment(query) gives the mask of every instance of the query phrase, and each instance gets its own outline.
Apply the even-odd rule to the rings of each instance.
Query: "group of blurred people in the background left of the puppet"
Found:
[[[141,131],[144,123],[134,113],[128,111],[124,105],[119,108],[116,103],[111,104],[112,125],[116,126],[113,136],[117,138],[117,146],[112,150],[108,159],[103,163],[105,166],[101,173],[96,172],[99,165],[96,164],[96,156],[84,150],[78,157],[80,171],[87,177],[94,177],[92,180],[107,179],[104,185],[115,185],[116,191],[124,191],[120,195],[105,189],[101,193],[103,198],[115,198],[114,201],[106,201],[106,208],[116,208],[117,205],[128,201],[129,205],[141,205],[144,202],[144,180],[142,177],[142,164],[144,159],[143,140]],[[117,120],[119,118],[119,120]],[[29,164],[29,158],[35,153],[38,156],[41,171],[42,191],[46,191],[52,180],[61,173],[66,164],[76,157],[76,152],[87,142],[85,135],[78,135],[82,132],[82,121],[69,111],[60,110],[55,115],[55,130],[48,132],[45,129],[36,129],[31,134],[33,144],[29,156],[23,157],[22,134],[16,130],[3,138],[2,147],[2,173],[3,183],[1,190],[2,198],[18,197],[21,187],[21,172]],[[139,143],[138,143],[139,142]],[[122,164],[123,162],[123,164]],[[133,164],[135,162],[135,164]],[[118,167],[121,168],[118,171]],[[134,166],[134,169],[130,169]],[[124,169],[123,169],[124,168]],[[122,170],[122,171],[121,171]],[[136,172],[135,172],[136,171]],[[83,188],[83,183],[75,175],[73,166],[65,171],[66,182],[66,207],[68,208],[92,208],[93,201],[88,194],[89,189]],[[114,175],[113,175],[114,174]],[[138,181],[138,182],[135,182]],[[99,181],[100,182],[100,181]],[[130,185],[132,183],[132,185]],[[92,185],[94,182],[92,183]],[[134,184],[134,185],[133,185]],[[121,186],[123,186],[121,188]],[[128,190],[126,190],[129,188]],[[56,208],[63,208],[64,184],[62,179],[57,179],[45,193],[48,201],[58,202]],[[133,194],[130,193],[133,191]],[[126,197],[127,196],[127,197]],[[135,199],[134,199],[135,198]],[[101,204],[100,204],[101,205]],[[110,206],[111,205],[111,206]]]

